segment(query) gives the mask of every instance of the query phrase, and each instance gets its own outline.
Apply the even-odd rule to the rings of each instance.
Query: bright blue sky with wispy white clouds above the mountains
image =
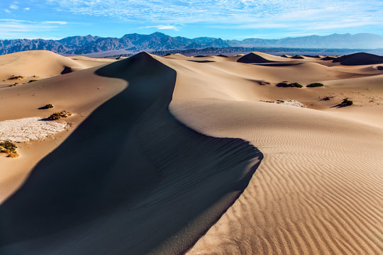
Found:
[[[154,32],[236,40],[383,35],[383,0],[0,1],[0,39]]]

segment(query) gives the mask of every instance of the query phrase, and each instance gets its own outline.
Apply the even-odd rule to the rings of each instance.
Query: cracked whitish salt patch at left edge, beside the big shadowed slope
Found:
[[[41,117],[0,121],[0,141],[39,140],[65,130],[67,123],[41,120]]]

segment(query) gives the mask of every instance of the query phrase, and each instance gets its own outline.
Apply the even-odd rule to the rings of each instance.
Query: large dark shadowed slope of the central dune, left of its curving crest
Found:
[[[146,53],[96,71],[128,81],[0,206],[0,254],[179,254],[218,220],[262,154],[168,111],[176,72]],[[258,160],[256,160],[258,159]]]

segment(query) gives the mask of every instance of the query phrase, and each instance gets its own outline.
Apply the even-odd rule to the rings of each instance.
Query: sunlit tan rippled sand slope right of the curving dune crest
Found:
[[[175,68],[176,64],[173,66]],[[382,76],[343,80],[341,78],[347,74],[315,63],[295,68],[296,72],[291,70],[293,74],[329,77],[325,71],[328,70],[332,73],[330,76],[338,76],[332,83],[326,83],[323,94],[341,96],[365,91],[371,86],[375,96],[383,95],[378,85]],[[249,69],[247,75],[265,75],[266,71],[255,73],[256,69],[260,67],[254,67],[251,73]],[[177,85],[189,84],[190,77],[196,75],[192,70],[189,67],[187,74],[179,72]],[[207,76],[211,72],[206,67],[204,71],[199,70],[199,79],[204,79],[203,96],[209,98],[208,94],[213,96],[211,88],[217,84],[206,82],[211,80]],[[282,72],[272,73],[274,77],[279,75],[279,79],[285,77]],[[225,75],[228,74],[222,72],[217,76]],[[348,75],[353,77],[353,74]],[[372,82],[366,82],[369,79]],[[243,88],[238,86],[239,80],[226,81],[228,86],[235,84],[237,94]],[[360,86],[361,81],[364,86]],[[221,83],[223,81],[219,82],[220,86]],[[272,86],[258,88],[277,93]],[[262,96],[260,91],[256,93]],[[314,100],[317,92],[313,90],[289,89],[284,93],[308,102],[309,106],[319,103],[318,99]],[[245,193],[189,254],[382,253],[382,228],[378,226],[382,222],[380,201],[383,194],[380,192],[382,179],[378,176],[383,164],[383,132],[381,128],[374,128],[375,124],[382,123],[382,115],[372,113],[368,116],[370,121],[365,118],[362,123],[356,115],[342,118],[306,108],[248,102],[245,97],[231,101],[221,96],[220,100],[202,101],[177,87],[174,94],[171,111],[189,127],[207,135],[241,137],[257,145],[265,154]],[[263,96],[270,98],[270,94]],[[215,98],[217,96],[214,94]],[[367,100],[358,99],[357,103],[365,110],[357,109],[364,113],[371,111],[366,107]],[[353,108],[337,111],[340,110],[340,115],[348,117],[351,115],[347,111],[351,114],[357,111]]]

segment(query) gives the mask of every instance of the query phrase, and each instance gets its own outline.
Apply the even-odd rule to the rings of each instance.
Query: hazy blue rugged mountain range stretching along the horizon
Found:
[[[205,47],[290,47],[290,48],[347,48],[376,49],[383,47],[380,35],[360,33],[333,34],[326,36],[310,35],[297,38],[266,40],[248,38],[245,40],[222,40],[221,38],[184,38],[172,37],[163,33],[123,35],[122,38],[101,38],[99,36],[71,36],[61,40],[0,40],[0,55],[23,50],[51,50],[62,55],[84,55],[96,52],[118,52],[134,54],[141,51],[202,49]]]

